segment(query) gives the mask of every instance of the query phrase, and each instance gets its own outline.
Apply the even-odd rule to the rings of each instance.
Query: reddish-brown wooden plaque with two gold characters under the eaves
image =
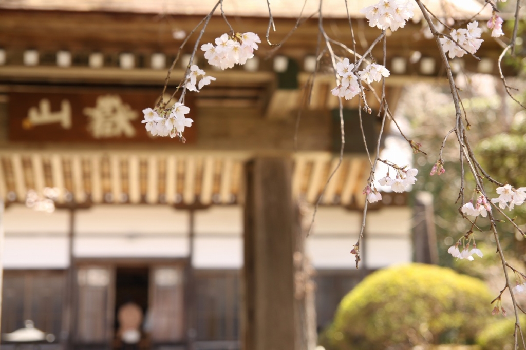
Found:
[[[11,92],[9,141],[177,143],[151,136],[141,123],[143,109],[153,107],[158,97],[152,92]],[[195,108],[190,110],[189,118],[196,120]],[[185,130],[187,142],[195,142],[196,135],[195,124]]]

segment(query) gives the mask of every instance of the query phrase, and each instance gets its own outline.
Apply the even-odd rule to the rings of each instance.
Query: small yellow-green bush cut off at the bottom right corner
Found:
[[[521,324],[526,322],[526,316],[521,315]],[[477,337],[477,344],[482,350],[513,350],[513,331],[515,317],[508,315],[507,319],[489,324]],[[522,332],[524,334],[524,330]],[[525,335],[526,336],[526,335]],[[519,337],[519,344],[521,343]]]

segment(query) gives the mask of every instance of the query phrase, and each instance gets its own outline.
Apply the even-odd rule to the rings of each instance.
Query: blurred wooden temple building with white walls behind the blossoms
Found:
[[[324,3],[328,35],[351,45],[345,11],[339,2]],[[349,1],[364,49],[380,33],[359,13],[372,3]],[[428,3],[441,10],[440,2]],[[477,4],[458,6],[473,15]],[[330,323],[342,296],[368,273],[434,261],[432,235],[413,235],[408,194],[383,193],[369,206],[355,266],[350,250],[370,164],[358,99],[345,101],[344,156],[326,187],[341,137],[328,57],[306,103],[316,18],[275,49],[265,40],[266,2],[225,0],[232,27],[261,37],[256,57],[221,71],[199,50],[195,62],[217,80],[186,95],[194,120],[186,143],[148,135],[142,110],[154,107],[179,47],[214,5],[0,2],[3,349],[17,346],[4,335],[26,320],[44,332],[42,349],[121,348],[118,312],[130,301],[143,312],[139,349],[306,349],[312,332]],[[272,4],[273,43],[296,25],[301,4],[289,5]],[[199,30],[171,71],[168,93],[183,78]],[[201,43],[228,30],[218,9]],[[405,84],[443,75],[434,45],[420,23],[390,34],[391,109]],[[457,62],[495,72],[497,44],[479,54],[479,62]],[[382,57],[381,47],[372,55]],[[372,94],[369,105],[363,130],[376,152],[379,105]],[[428,205],[420,203],[421,211]]]

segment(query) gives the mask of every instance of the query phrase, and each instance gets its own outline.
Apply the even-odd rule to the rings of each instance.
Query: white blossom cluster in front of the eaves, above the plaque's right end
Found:
[[[205,51],[205,58],[212,66],[221,69],[232,68],[234,65],[244,65],[247,59],[254,57],[254,50],[258,49],[261,39],[257,34],[236,33],[233,37],[223,34],[215,40],[216,45],[207,43],[201,46]]]

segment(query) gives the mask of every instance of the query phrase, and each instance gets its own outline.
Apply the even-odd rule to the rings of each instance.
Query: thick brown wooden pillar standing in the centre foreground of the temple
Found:
[[[246,165],[244,350],[294,350],[294,235],[299,222],[291,192],[292,162],[257,158]]]

